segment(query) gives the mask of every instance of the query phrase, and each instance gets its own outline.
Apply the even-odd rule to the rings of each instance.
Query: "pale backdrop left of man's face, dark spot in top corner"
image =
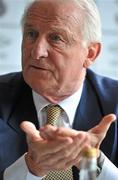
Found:
[[[0,0],[0,74],[21,69],[21,25],[25,6],[30,0]]]

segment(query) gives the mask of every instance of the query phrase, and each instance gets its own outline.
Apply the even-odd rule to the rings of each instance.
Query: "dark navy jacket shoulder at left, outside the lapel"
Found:
[[[0,117],[6,117],[12,108],[29,92],[29,86],[23,79],[22,72],[0,76]],[[24,96],[23,96],[24,97]],[[6,113],[7,112],[7,113]]]

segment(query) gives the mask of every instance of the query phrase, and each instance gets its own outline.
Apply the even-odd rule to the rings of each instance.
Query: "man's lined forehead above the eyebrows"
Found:
[[[25,20],[44,22],[48,25],[53,22],[65,26],[78,26],[78,11],[71,0],[39,0],[28,9]]]

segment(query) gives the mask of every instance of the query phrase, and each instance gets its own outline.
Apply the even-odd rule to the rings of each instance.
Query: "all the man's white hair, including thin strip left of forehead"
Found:
[[[31,0],[31,3],[25,9],[22,17],[22,28],[26,20],[27,12],[35,1]],[[62,2],[65,0],[61,0]],[[78,8],[78,22],[80,23],[80,33],[85,43],[101,42],[101,20],[99,10],[94,0],[73,0],[77,3]],[[68,0],[67,0],[68,2]]]

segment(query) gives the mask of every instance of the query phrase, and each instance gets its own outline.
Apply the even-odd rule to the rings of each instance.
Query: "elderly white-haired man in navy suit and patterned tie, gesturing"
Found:
[[[118,82],[88,69],[101,50],[94,1],[37,0],[22,24],[23,71],[0,77],[1,179],[79,180],[87,147],[96,178],[118,179]]]

